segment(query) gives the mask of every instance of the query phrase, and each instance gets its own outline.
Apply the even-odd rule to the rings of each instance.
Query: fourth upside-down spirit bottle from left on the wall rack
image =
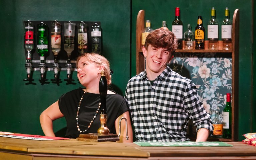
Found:
[[[71,52],[74,50],[75,23],[64,22],[64,50],[67,52],[68,63],[70,62]]]

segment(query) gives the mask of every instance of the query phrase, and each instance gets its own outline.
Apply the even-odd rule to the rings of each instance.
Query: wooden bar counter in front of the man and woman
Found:
[[[140,147],[134,143],[68,140],[26,140],[0,137],[0,160],[219,160],[256,159],[256,147],[226,142],[232,147]]]

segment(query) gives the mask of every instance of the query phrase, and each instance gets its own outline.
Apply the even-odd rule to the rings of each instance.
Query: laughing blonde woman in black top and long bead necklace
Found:
[[[99,81],[101,71],[105,71],[108,85],[111,84],[109,62],[99,54],[85,53],[77,58],[77,77],[85,87],[62,95],[40,115],[40,123],[46,136],[55,136],[52,122],[65,117],[67,121],[66,137],[77,138],[79,134],[97,133],[100,127]],[[121,142],[132,142],[132,127],[129,108],[121,95],[108,90],[106,97],[107,127],[110,133],[119,133],[119,120],[127,119],[129,140],[125,140],[125,121],[121,123]]]

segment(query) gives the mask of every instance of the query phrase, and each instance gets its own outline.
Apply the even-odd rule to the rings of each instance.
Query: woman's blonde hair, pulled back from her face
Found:
[[[105,77],[107,79],[107,83],[108,83],[108,85],[111,84],[110,65],[109,65],[109,61],[105,57],[103,57],[102,55],[96,54],[96,53],[83,53],[77,57],[76,67],[78,65],[78,61],[82,57],[84,57],[87,60],[91,61],[92,63],[96,64],[96,66],[104,66]]]

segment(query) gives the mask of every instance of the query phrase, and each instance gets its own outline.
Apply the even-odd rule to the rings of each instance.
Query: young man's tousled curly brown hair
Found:
[[[156,48],[167,49],[172,55],[177,49],[178,43],[174,33],[169,30],[159,28],[154,30],[152,33],[149,33],[147,36],[144,46],[147,49],[149,45]]]

